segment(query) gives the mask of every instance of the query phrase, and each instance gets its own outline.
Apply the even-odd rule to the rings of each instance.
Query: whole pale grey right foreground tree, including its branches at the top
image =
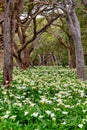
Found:
[[[75,0],[70,0],[70,1],[51,0],[51,1],[47,1],[46,4],[51,4],[51,6],[54,5],[52,7],[56,6],[55,8],[56,11],[58,13],[61,11],[60,13],[65,15],[65,19],[67,21],[68,28],[72,34],[72,38],[75,46],[77,78],[81,80],[85,80],[86,79],[85,62],[84,62],[83,47],[81,42],[80,25],[75,12],[76,1]]]

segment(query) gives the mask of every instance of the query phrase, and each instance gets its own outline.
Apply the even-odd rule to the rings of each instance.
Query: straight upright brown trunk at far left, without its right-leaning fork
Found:
[[[12,71],[13,71],[13,57],[12,57],[12,19],[11,10],[12,1],[5,1],[4,12],[4,68],[3,68],[3,85],[11,85],[12,83]]]

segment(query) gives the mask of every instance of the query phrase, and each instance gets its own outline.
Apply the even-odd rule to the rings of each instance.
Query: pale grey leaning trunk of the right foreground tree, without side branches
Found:
[[[82,47],[82,42],[81,42],[80,25],[79,25],[79,21],[75,13],[75,1],[72,0],[72,2],[73,2],[72,3],[73,8],[70,14],[69,12],[67,12],[68,14],[67,22],[68,22],[68,26],[74,40],[77,78],[81,80],[86,80],[85,62],[84,62],[84,53],[83,53],[83,47]]]

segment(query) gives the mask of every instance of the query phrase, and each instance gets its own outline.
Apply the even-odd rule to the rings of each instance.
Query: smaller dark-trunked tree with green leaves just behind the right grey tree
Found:
[[[68,51],[69,68],[75,68],[75,48],[73,45],[72,35],[66,26],[65,18],[58,19],[58,21],[56,21],[53,26],[54,30],[52,27],[52,29],[50,28],[47,32],[58,39],[59,47],[62,45]]]

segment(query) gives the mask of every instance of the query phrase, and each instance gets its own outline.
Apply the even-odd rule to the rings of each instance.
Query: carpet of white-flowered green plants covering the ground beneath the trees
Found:
[[[0,87],[0,130],[87,130],[87,81],[75,70],[15,68],[13,77]]]

